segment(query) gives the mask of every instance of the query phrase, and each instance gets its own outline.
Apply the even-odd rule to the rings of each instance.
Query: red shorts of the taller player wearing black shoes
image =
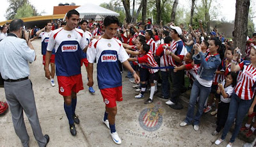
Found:
[[[70,77],[57,76],[59,93],[63,96],[70,96],[71,91],[78,93],[84,89],[82,75],[72,75]]]

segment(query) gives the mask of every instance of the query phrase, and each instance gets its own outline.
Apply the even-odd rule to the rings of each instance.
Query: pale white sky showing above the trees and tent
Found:
[[[101,3],[109,3],[111,0],[93,0],[93,1],[81,1],[81,0],[44,0],[38,1],[38,0],[29,0],[31,4],[35,6],[35,8],[38,10],[38,12],[45,12],[44,15],[52,15],[53,13],[53,6],[58,6],[59,3],[76,3],[77,6],[82,6],[86,3],[92,3],[99,5]],[[236,0],[216,0],[218,3],[215,3],[216,6],[218,6],[220,10],[220,16],[218,19],[220,20],[221,18],[225,17],[226,20],[232,21],[235,19],[236,15]],[[178,6],[187,8],[190,10],[190,0],[180,0]],[[214,4],[214,3],[213,3]],[[254,12],[256,12],[256,2],[251,3],[254,8]],[[1,0],[1,9],[0,9],[0,22],[6,20],[4,17],[4,14],[6,12],[6,9],[8,8],[9,3],[7,0]],[[255,15],[256,16],[256,15]],[[256,17],[253,18],[253,22],[256,27]]]

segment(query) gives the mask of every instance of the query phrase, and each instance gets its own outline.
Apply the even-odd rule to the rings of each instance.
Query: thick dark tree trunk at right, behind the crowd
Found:
[[[245,55],[246,37],[248,34],[248,14],[250,0],[236,0],[236,18],[234,31],[234,47],[238,47]]]

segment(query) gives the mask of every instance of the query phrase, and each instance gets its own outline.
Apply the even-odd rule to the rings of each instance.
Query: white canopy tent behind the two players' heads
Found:
[[[95,4],[84,4],[76,8],[80,13],[80,19],[99,19],[102,20],[108,15],[119,16],[119,13],[113,12]]]

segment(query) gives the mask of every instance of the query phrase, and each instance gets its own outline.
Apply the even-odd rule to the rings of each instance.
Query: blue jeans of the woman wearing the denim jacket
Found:
[[[205,100],[209,96],[211,91],[211,87],[207,88],[205,86],[202,86],[197,80],[194,81],[190,98],[189,98],[189,106],[188,106],[188,112],[186,119],[184,120],[186,123],[191,124],[194,119],[194,125],[199,125],[200,118],[204,111],[204,104]],[[199,102],[198,102],[198,111],[196,112],[195,118],[194,118],[194,109],[196,104],[196,98],[199,96]]]

